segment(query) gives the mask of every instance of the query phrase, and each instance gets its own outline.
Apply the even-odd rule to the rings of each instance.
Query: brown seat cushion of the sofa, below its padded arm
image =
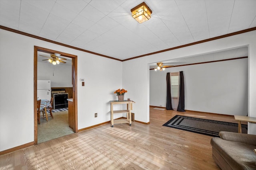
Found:
[[[255,145],[226,141],[218,137],[211,139],[212,147],[234,170],[256,170]]]

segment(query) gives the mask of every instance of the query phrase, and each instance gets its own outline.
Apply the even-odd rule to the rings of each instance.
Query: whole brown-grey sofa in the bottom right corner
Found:
[[[220,132],[211,139],[212,158],[222,170],[256,170],[256,135]]]

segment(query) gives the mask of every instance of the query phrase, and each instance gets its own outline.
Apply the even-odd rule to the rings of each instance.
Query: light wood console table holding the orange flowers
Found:
[[[128,100],[124,100],[122,102],[119,102],[118,100],[112,100],[110,101],[110,105],[111,105],[111,127],[114,126],[114,124],[118,124],[118,123],[129,123],[129,125],[132,125],[132,119],[129,119],[129,117],[131,118],[131,110],[132,110],[132,104],[134,104],[135,102],[133,101],[128,101]],[[113,105],[114,104],[127,104],[126,106],[126,110],[113,110]],[[127,118],[126,119],[113,119],[113,115],[114,113],[127,113]]]

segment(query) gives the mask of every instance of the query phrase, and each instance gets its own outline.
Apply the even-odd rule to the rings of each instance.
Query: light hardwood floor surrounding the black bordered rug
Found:
[[[212,137],[162,125],[177,114],[236,123],[233,116],[153,108],[148,125],[107,123],[2,155],[0,169],[220,170]]]

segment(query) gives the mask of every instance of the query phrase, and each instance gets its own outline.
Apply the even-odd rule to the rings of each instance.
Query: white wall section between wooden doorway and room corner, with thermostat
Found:
[[[96,55],[80,57],[78,63],[78,129],[110,121],[110,100],[117,100],[114,91],[122,88],[122,63]],[[85,86],[80,78],[85,78]],[[115,114],[114,119],[121,116]]]

